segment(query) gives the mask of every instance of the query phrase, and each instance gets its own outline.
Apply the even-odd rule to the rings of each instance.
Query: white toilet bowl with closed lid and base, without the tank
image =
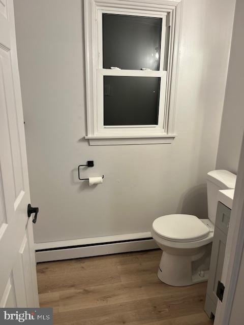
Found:
[[[160,221],[159,219],[161,218],[162,222],[159,224],[157,221]],[[169,238],[169,236],[165,237],[167,231],[161,233],[161,226],[169,218],[172,219],[172,222],[175,222],[175,227],[172,228],[174,228],[176,234],[184,230],[182,231],[184,236],[181,235],[177,238],[177,235],[175,235]],[[196,219],[194,220],[194,218]],[[199,225],[199,237],[194,237],[191,232],[187,232],[187,226],[191,221],[193,221],[196,230]],[[208,259],[211,248],[207,244],[212,242],[214,228],[214,224],[209,219],[198,219],[192,215],[173,214],[156,219],[153,223],[151,234],[158,246],[163,250],[158,270],[159,279],[164,283],[174,286],[184,286],[206,281],[208,278]],[[173,235],[172,231],[171,234]],[[198,261],[198,263],[196,263],[194,269],[193,262],[195,261]]]

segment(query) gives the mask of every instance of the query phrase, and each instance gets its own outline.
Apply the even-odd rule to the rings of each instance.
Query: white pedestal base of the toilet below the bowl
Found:
[[[172,255],[163,251],[158,278],[169,285],[186,286],[207,281],[208,268],[205,265],[204,251],[195,256]]]

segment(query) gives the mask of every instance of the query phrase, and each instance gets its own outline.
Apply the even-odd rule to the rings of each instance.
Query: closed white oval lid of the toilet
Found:
[[[208,227],[195,215],[169,214],[154,220],[153,230],[160,236],[175,242],[191,242],[207,237]]]

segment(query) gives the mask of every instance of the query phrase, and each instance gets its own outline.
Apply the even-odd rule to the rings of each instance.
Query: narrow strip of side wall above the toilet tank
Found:
[[[236,2],[230,63],[221,123],[217,168],[237,173],[244,132],[244,2]]]

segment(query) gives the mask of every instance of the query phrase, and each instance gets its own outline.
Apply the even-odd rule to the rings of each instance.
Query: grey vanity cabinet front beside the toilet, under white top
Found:
[[[221,281],[223,263],[225,258],[225,246],[230,222],[230,214],[231,209],[229,209],[223,203],[218,202],[214,240],[212,241],[207,294],[204,307],[208,317],[210,318],[213,318],[217,308],[217,289],[218,283]],[[221,290],[220,286],[219,290]]]

